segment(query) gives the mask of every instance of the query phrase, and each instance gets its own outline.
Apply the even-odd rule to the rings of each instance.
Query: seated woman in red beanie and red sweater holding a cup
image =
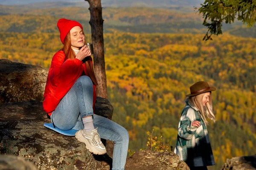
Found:
[[[44,92],[44,111],[61,130],[78,130],[76,139],[93,154],[106,153],[100,140],[113,141],[113,169],[124,170],[129,135],[124,127],[94,113],[96,77],[83,27],[74,20],[57,23],[64,47],[52,58]],[[99,136],[100,135],[100,136]]]

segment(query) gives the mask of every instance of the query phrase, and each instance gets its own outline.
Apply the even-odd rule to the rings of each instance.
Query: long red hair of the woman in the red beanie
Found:
[[[75,52],[71,49],[70,32],[67,33],[67,36],[64,39],[64,46],[61,50],[64,51],[65,61],[67,59],[74,59],[76,57]],[[92,57],[91,56],[85,57],[84,61],[85,61],[85,66],[86,66],[88,76],[90,77],[94,85],[98,85],[94,71],[93,71]]]

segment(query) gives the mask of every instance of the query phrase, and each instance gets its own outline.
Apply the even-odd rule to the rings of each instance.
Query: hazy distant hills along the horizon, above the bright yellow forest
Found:
[[[90,12],[81,7],[28,8],[0,6],[0,32],[58,33],[56,23],[60,18],[77,20],[90,33]],[[72,15],[71,15],[72,14]],[[104,32],[204,34],[202,17],[195,12],[148,7],[103,8]],[[241,22],[223,24],[223,32],[241,37],[256,38],[255,27],[247,28]]]

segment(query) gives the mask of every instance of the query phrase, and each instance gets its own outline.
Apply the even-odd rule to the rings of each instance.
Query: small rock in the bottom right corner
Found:
[[[227,159],[221,170],[256,170],[256,155]]]

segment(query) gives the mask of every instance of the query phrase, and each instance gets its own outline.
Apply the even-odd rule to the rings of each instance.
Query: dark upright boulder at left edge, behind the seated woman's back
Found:
[[[48,69],[0,59],[0,103],[43,100]]]

